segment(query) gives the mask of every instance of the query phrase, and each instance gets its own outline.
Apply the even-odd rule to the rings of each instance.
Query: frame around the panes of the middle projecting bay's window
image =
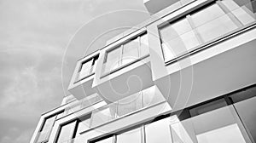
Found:
[[[140,48],[141,48],[141,37],[143,37],[144,35],[148,35],[148,32],[146,30],[143,30],[143,31],[140,31],[139,33],[137,33],[135,36],[132,36],[132,37],[129,37],[128,39],[125,39],[124,42],[121,42],[121,43],[118,43],[116,45],[114,45],[112,48],[110,49],[107,49],[104,53],[104,60],[103,60],[103,65],[106,64],[108,61],[107,61],[107,58],[108,58],[108,53],[113,51],[114,49],[121,49],[120,50],[120,54],[119,54],[119,67],[113,69],[113,70],[110,70],[108,72],[104,72],[104,69],[102,69],[102,72],[101,72],[101,77],[107,77],[108,75],[112,74],[113,72],[118,72],[119,70],[125,68],[126,66],[130,66],[134,63],[136,63],[137,61],[139,60],[143,60],[145,59],[146,57],[149,56],[149,53],[146,54],[146,55],[143,55],[141,56],[141,52],[140,52]],[[139,43],[137,44],[137,53],[138,53],[138,58],[136,60],[133,60],[129,63],[126,63],[125,65],[121,65],[122,63],[122,57],[123,57],[123,51],[124,51],[124,45],[126,43],[129,43],[131,42],[133,39],[137,39],[139,41]],[[149,48],[148,48],[149,49]],[[149,50],[148,50],[149,51]]]

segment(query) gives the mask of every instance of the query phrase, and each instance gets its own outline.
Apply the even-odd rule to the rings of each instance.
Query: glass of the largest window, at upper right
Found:
[[[160,28],[165,62],[255,21],[253,3],[221,0]]]

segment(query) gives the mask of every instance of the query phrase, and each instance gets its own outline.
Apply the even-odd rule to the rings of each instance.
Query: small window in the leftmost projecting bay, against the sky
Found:
[[[79,72],[77,74],[75,82],[79,82],[80,80],[90,76],[92,73],[95,72],[98,58],[99,55],[96,55],[90,60],[85,60],[84,62],[82,62],[81,66],[79,67]]]

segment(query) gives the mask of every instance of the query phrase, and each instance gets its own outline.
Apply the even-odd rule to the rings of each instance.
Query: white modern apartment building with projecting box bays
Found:
[[[145,0],[78,60],[30,143],[255,143],[255,0]]]

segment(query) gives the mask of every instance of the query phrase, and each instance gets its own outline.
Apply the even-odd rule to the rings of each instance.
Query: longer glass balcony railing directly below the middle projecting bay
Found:
[[[122,100],[113,102],[107,106],[96,109],[91,114],[90,128],[113,121],[114,119],[130,115],[143,108],[154,106],[166,101],[155,86],[143,91],[132,94]]]

